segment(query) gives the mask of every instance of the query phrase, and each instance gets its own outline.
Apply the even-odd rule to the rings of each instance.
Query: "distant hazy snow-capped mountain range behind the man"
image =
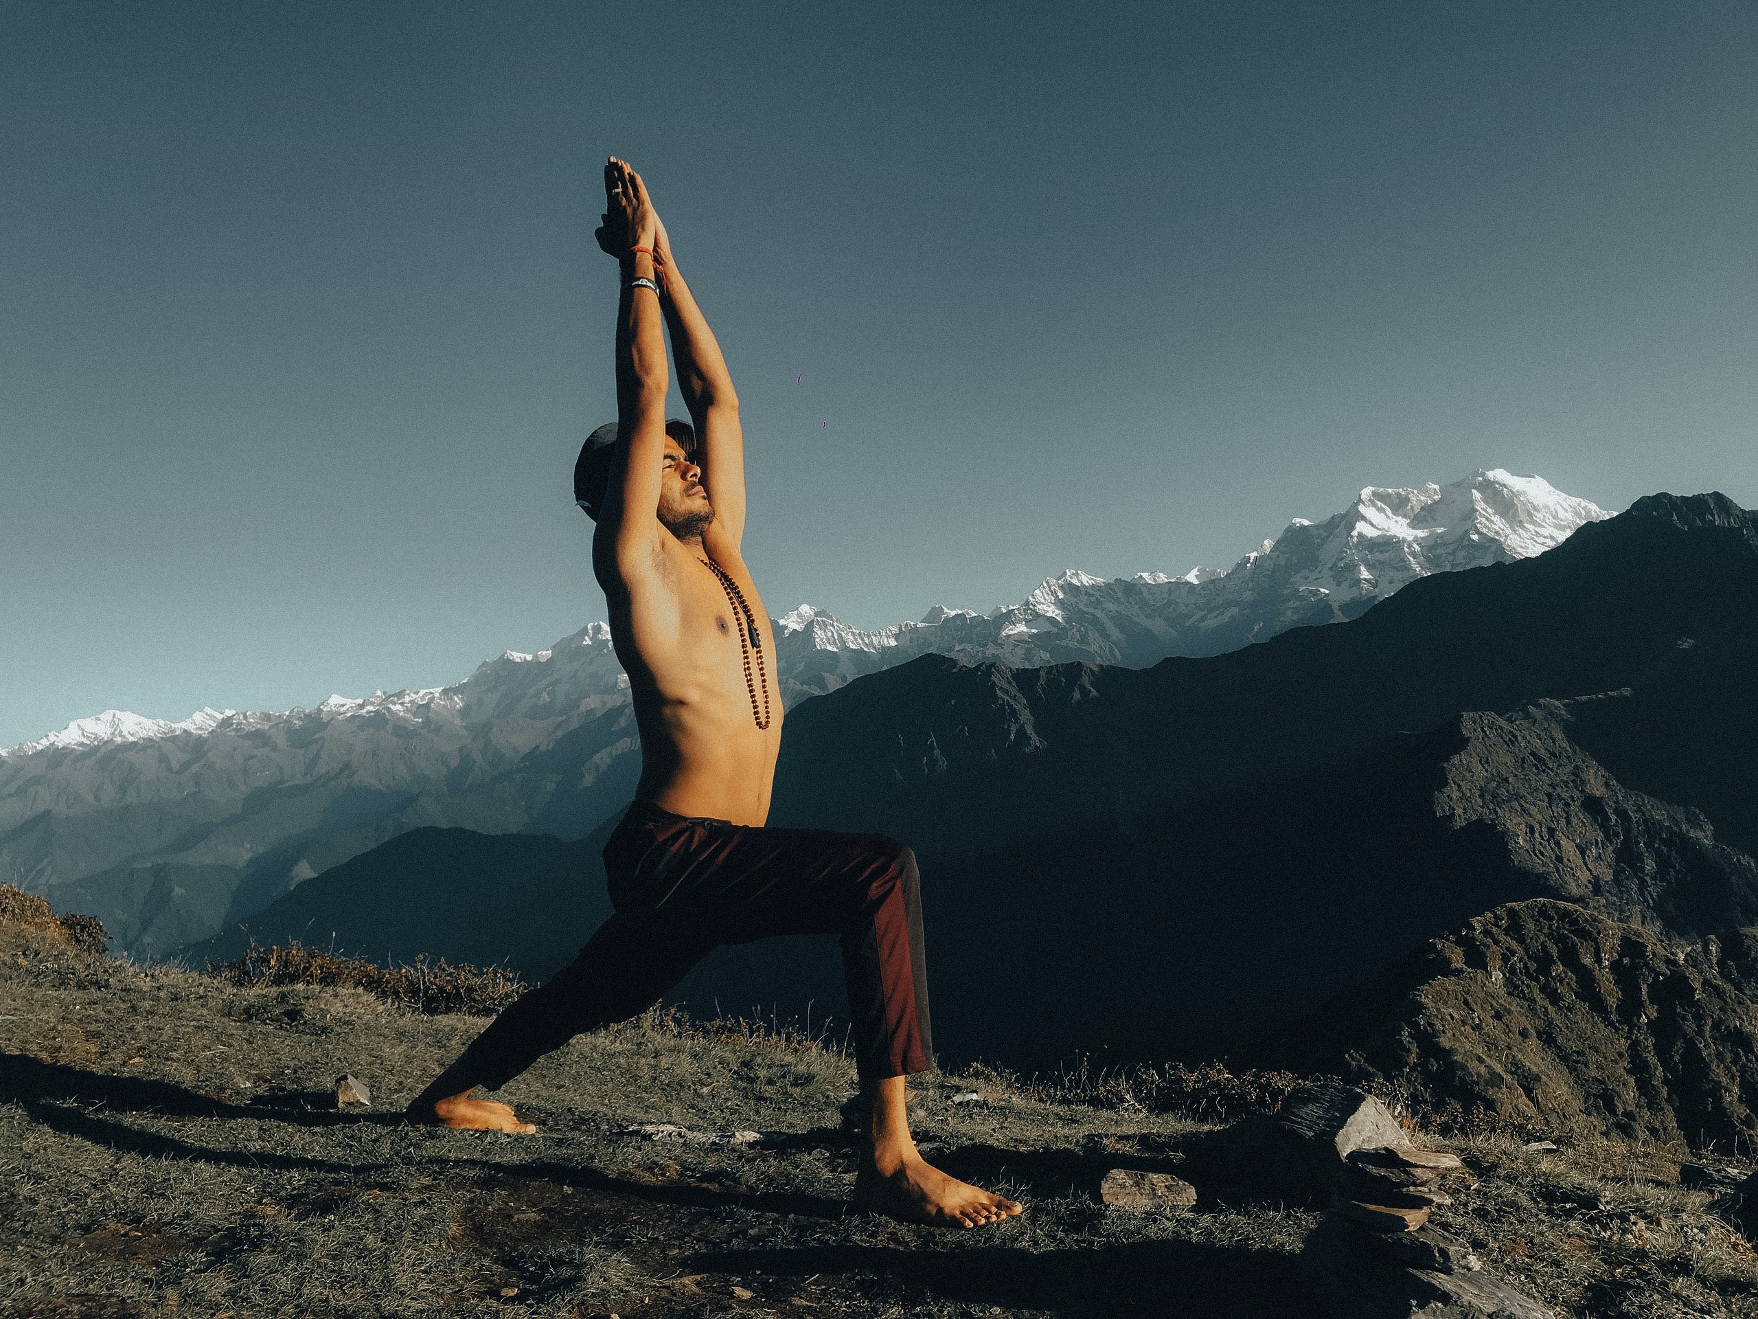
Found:
[[[1014,668],[1146,667],[1366,612],[1436,572],[1510,563],[1609,517],[1536,477],[1368,487],[1294,521],[1231,570],[1046,580],[988,614],[935,607],[856,630],[802,605],[775,621],[789,707],[923,654]],[[638,740],[603,624],[508,651],[448,688],[331,696],[181,723],[107,711],[0,753],[0,879],[98,915],[158,955],[411,828],[580,839],[629,800]]]

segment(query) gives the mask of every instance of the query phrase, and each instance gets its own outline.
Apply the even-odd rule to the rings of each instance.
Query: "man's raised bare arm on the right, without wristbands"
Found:
[[[714,505],[714,522],[703,533],[703,547],[712,556],[716,540],[726,536],[731,552],[738,554],[745,535],[745,438],[738,424],[733,376],[707,317],[677,269],[663,223],[656,251],[659,285],[665,288],[661,306],[672,331],[672,355],[677,359],[677,387],[696,424],[696,464]]]

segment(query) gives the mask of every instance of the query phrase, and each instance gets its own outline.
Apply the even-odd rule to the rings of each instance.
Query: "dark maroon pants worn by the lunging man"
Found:
[[[636,802],[605,844],[615,915],[466,1050],[499,1089],[582,1031],[650,1008],[724,943],[840,934],[861,1078],[932,1066],[914,853],[879,834],[756,828]]]

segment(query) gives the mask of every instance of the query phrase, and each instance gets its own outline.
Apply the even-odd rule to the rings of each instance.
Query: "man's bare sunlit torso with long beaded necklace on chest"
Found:
[[[714,540],[708,536],[710,545]],[[782,721],[774,638],[744,559],[716,549],[719,566],[751,607],[759,649],[740,644],[744,612],[721,579],[673,536],[659,536],[650,573],[626,582],[615,563],[601,561],[598,577],[642,735],[635,795],[680,816],[761,825],[768,820]],[[761,714],[765,686],[768,728],[758,728],[751,693],[754,688]]]

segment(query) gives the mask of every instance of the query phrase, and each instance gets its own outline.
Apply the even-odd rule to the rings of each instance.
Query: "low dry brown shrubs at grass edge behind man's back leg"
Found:
[[[287,948],[280,944],[262,948],[251,939],[241,958],[209,962],[204,974],[244,988],[353,985],[387,1002],[425,1015],[494,1017],[527,988],[526,981],[506,967],[478,969],[469,962],[454,966],[445,958],[429,962],[427,953],[417,957],[413,966],[381,967],[360,957],[338,957],[297,941],[288,941]]]

